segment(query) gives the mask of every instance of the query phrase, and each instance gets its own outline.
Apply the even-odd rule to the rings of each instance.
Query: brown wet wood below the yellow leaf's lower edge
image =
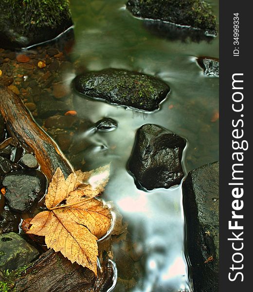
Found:
[[[49,250],[17,279],[15,288],[17,292],[106,292],[112,282],[110,262],[95,278],[89,269],[72,264],[60,253]]]

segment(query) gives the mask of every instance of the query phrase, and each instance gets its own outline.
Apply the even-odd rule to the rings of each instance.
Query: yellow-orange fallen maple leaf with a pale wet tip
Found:
[[[111,225],[111,214],[95,199],[108,182],[109,165],[89,172],[76,171],[65,180],[58,167],[45,198],[49,211],[38,213],[28,234],[45,236],[48,248],[97,275],[97,240]],[[64,202],[64,204],[63,204]]]

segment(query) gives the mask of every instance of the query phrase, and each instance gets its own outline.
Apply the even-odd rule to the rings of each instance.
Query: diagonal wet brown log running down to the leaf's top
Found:
[[[18,95],[0,87],[0,113],[7,130],[28,152],[34,152],[41,171],[51,181],[59,166],[65,178],[73,171],[56,143],[40,128]]]

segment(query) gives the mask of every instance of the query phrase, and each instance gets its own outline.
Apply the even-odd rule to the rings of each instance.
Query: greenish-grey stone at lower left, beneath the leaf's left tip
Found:
[[[0,269],[16,270],[29,264],[39,252],[14,232],[0,235]]]

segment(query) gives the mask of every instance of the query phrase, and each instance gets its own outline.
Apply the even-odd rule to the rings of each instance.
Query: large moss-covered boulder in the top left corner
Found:
[[[72,26],[68,0],[1,0],[0,47],[25,48]]]

